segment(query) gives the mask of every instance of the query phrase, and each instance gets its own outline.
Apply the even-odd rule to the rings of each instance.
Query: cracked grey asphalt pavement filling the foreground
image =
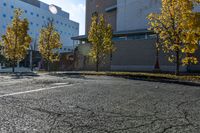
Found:
[[[200,133],[200,87],[108,76],[0,76],[0,133]]]

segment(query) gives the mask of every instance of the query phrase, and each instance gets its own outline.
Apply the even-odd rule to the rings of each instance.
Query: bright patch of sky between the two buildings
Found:
[[[54,4],[70,13],[70,19],[80,23],[80,35],[85,34],[85,0],[40,0]]]

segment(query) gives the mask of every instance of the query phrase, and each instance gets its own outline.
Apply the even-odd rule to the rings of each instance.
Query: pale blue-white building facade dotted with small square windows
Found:
[[[53,7],[53,12],[50,10]],[[73,51],[72,36],[79,35],[79,24],[69,19],[69,13],[55,5],[48,5],[38,0],[0,0],[0,35],[13,19],[15,8],[23,10],[23,17],[29,20],[29,35],[32,37],[31,48],[37,51],[40,29],[53,19],[56,30],[60,33],[63,47],[60,52]]]

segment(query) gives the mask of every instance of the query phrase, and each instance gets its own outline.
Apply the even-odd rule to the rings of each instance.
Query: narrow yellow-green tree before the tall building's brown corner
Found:
[[[91,42],[89,56],[96,63],[97,72],[99,71],[99,64],[103,63],[106,55],[112,54],[114,51],[112,37],[112,26],[106,24],[103,15],[93,15],[88,35],[88,40]]]

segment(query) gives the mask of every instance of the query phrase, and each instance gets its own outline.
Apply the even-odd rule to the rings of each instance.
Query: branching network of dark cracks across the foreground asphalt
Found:
[[[172,117],[172,118],[160,118],[157,116],[157,114],[160,113],[160,111],[158,111],[159,109],[157,108],[158,104],[160,103],[160,101],[156,101],[152,104],[152,106],[154,107],[154,112],[153,114],[150,114],[150,115],[141,115],[141,116],[137,116],[137,115],[125,115],[125,114],[121,114],[121,113],[117,113],[117,112],[109,112],[109,111],[93,111],[92,109],[89,109],[89,108],[84,108],[84,107],[81,107],[81,106],[71,106],[73,107],[75,110],[82,110],[83,112],[87,112],[87,113],[90,113],[91,116],[93,117],[98,117],[98,116],[101,116],[101,115],[105,115],[106,117],[110,117],[110,118],[115,118],[115,117],[121,117],[121,118],[126,118],[127,119],[131,119],[131,120],[139,120],[139,119],[144,119],[144,118],[148,118],[148,119],[151,119],[150,122],[148,123],[143,123],[143,124],[139,124],[139,125],[136,125],[136,126],[130,126],[130,127],[125,127],[125,128],[118,128],[118,129],[113,129],[113,130],[107,130],[107,129],[99,129],[99,128],[95,128],[95,127],[92,127],[90,125],[73,125],[73,123],[70,123],[70,121],[66,121],[66,120],[59,120],[60,118],[64,118],[66,117],[67,118],[67,115],[69,115],[69,112],[56,112],[56,111],[51,111],[51,110],[47,110],[47,109],[43,109],[43,108],[39,108],[39,107],[28,107],[28,106],[24,106],[24,105],[11,105],[10,106],[15,106],[15,107],[18,107],[18,108],[21,108],[21,109],[31,109],[33,111],[38,111],[38,112],[42,112],[42,113],[46,113],[50,116],[53,116],[53,118],[51,118],[51,120],[49,121],[53,121],[52,124],[50,124],[50,129],[49,129],[49,133],[52,133],[54,131],[54,129],[59,126],[59,123],[60,122],[67,122],[69,124],[69,130],[71,132],[73,132],[74,129],[76,128],[87,128],[87,129],[95,129],[97,131],[103,131],[103,132],[106,132],[106,133],[113,133],[113,132],[119,132],[119,131],[126,131],[126,130],[130,130],[130,129],[138,129],[138,128],[142,128],[142,127],[146,127],[146,126],[150,126],[150,125],[153,125],[155,124],[156,122],[160,122],[160,121],[168,121],[168,120],[175,120],[175,119],[184,119],[187,123],[186,124],[169,124],[169,126],[167,127],[164,127],[163,130],[160,132],[160,133],[166,133],[168,132],[169,130],[173,129],[173,128],[178,128],[178,127],[197,127],[198,125],[194,125],[193,123],[190,122],[189,120],[189,113],[184,110],[184,109],[181,109],[181,107],[185,104],[185,103],[192,103],[192,102],[198,102],[200,99],[195,99],[195,100],[192,100],[192,101],[184,101],[184,102],[180,102],[179,104],[177,104],[176,108],[180,111],[180,114],[182,116],[180,117]],[[12,101],[11,101],[12,102]],[[7,103],[8,105],[8,103]],[[74,112],[71,112],[72,115],[74,115]],[[24,116],[21,116],[22,118]]]

